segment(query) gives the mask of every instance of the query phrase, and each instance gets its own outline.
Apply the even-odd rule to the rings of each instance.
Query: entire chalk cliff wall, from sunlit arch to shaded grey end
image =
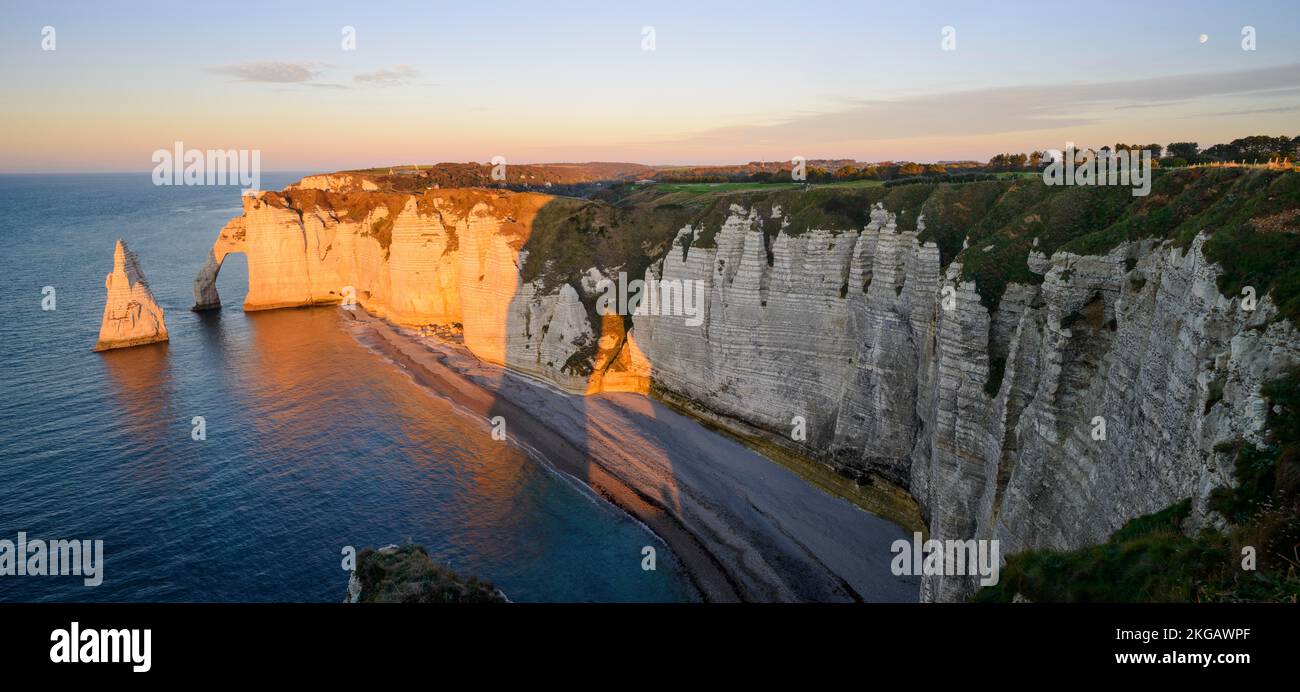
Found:
[[[1219,187],[1197,189],[1196,209]],[[927,202],[944,228],[928,233],[918,213],[927,198],[900,202],[911,191],[881,198],[894,208],[819,202],[848,208],[842,217],[758,196],[715,204],[671,225],[666,247],[642,245],[650,261],[640,264],[647,281],[699,282],[702,320],[637,315],[630,330],[616,316],[597,323],[588,307],[595,281],[637,267],[630,258],[577,267],[580,281],[556,281],[564,271],[549,258],[524,280],[534,248],[563,255],[538,241],[556,198],[266,193],[222,229],[196,307],[220,304],[216,271],[242,251],[248,310],[333,303],[355,286],[373,312],[463,325],[480,358],[571,392],[645,392],[653,381],[780,436],[803,428],[792,444],[806,454],[863,483],[907,488],[931,537],[997,539],[1002,555],[1098,542],[1188,497],[1193,519],[1213,522],[1209,493],[1232,479],[1216,447],[1261,442],[1261,386],[1300,363],[1292,323],[1278,319],[1271,295],[1254,310],[1222,295],[1205,233],[1186,243],[1128,233],[1075,254],[1053,239],[1065,221],[1006,212],[1013,195],[1041,190],[984,190],[994,193],[989,217],[1032,229],[1010,235],[1024,247],[1032,239],[1027,259],[991,261],[1005,250],[994,241],[956,248],[975,226],[957,212],[976,193]],[[1043,202],[1041,213],[1071,199]],[[670,207],[681,204],[660,208]],[[1227,211],[1209,208],[1226,222]],[[1082,225],[1119,219],[1066,212]],[[1143,228],[1167,221],[1150,213],[1131,217]],[[1039,251],[1040,237],[1052,247]],[[993,282],[1005,286],[991,306]],[[926,578],[922,594],[961,600],[974,589],[970,578]]]

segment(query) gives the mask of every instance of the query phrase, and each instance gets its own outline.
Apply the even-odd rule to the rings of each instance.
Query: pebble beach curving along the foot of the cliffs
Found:
[[[503,416],[517,446],[645,524],[705,601],[919,597],[919,580],[888,568],[889,544],[909,536],[904,527],[671,402],[567,394],[364,308],[348,317],[416,384],[484,421]],[[833,526],[845,531],[831,532]]]

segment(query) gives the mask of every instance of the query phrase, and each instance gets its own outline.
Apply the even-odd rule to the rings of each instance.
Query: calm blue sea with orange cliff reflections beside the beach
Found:
[[[280,189],[299,174],[269,174]],[[337,308],[244,313],[191,281],[231,187],[0,176],[0,539],[100,539],[104,583],[0,576],[0,601],[339,601],[341,549],[415,541],[515,601],[680,601],[641,524],[369,351]],[[140,258],[168,345],[91,353],[113,242]],[[55,286],[57,310],[42,311]],[[207,419],[205,441],[190,438]],[[656,571],[641,548],[659,546]]]

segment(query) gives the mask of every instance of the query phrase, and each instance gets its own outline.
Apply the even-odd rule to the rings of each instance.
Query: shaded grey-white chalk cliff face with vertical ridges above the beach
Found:
[[[1219,294],[1204,237],[1034,255],[1041,284],[1011,284],[991,315],[918,241],[923,221],[876,208],[862,232],[779,235],[771,263],[759,224],[733,207],[716,247],[664,259],[708,302],[701,328],[636,317],[656,385],[771,431],[803,416],[814,454],[907,486],[931,537],[1074,549],[1188,497],[1204,520],[1232,479],[1216,446],[1261,442],[1261,385],[1300,362],[1271,299]],[[927,578],[922,597],[974,591]]]

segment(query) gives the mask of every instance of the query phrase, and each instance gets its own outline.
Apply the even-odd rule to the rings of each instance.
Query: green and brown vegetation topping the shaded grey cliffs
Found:
[[[660,185],[621,204],[659,209],[677,228],[692,224],[701,229],[693,245],[715,247],[732,204],[758,209],[771,241],[776,233],[861,229],[876,203],[898,215],[902,230],[915,229],[924,213],[919,239],[939,246],[942,265],[959,260],[962,280],[975,281],[991,311],[1009,284],[1043,281],[1028,269],[1031,251],[1097,255],[1143,238],[1186,247],[1204,232],[1206,256],[1223,268],[1225,295],[1249,285],[1260,297],[1271,293],[1284,317],[1300,317],[1300,173],[1156,169],[1147,196],[1134,196],[1128,186],[1048,186],[1037,176],[897,186]],[[788,219],[784,229],[770,220],[775,206]]]

